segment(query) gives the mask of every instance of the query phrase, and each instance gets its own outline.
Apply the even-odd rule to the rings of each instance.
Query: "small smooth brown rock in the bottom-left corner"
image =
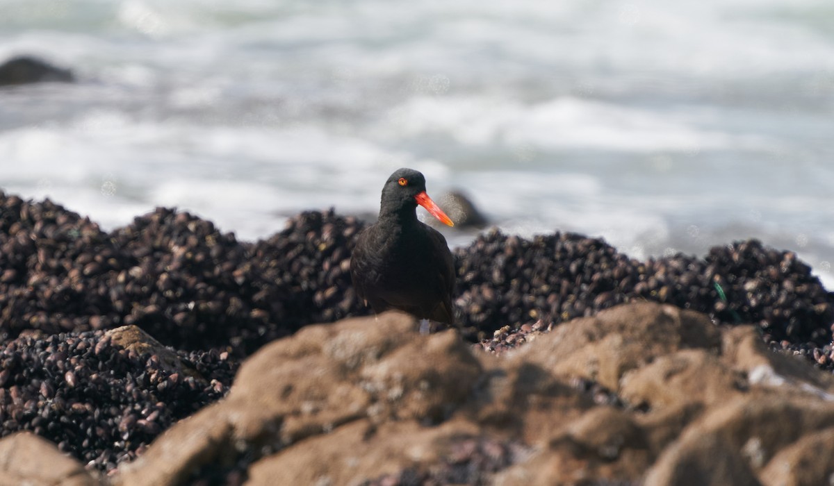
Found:
[[[94,486],[102,482],[34,433],[0,439],[0,486]]]

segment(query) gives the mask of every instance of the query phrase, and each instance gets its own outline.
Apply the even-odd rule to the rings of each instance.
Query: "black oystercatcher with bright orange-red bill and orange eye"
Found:
[[[455,263],[446,238],[417,220],[417,205],[449,226],[452,220],[425,193],[425,177],[410,168],[391,174],[382,188],[379,219],[356,240],[350,277],[356,294],[374,313],[399,309],[423,319],[454,324]]]

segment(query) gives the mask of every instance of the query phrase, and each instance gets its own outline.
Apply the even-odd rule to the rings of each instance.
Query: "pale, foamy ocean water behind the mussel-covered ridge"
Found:
[[[761,238],[834,288],[830,0],[0,0],[0,188],[266,238],[389,173],[636,258]],[[471,231],[445,230],[452,246]]]

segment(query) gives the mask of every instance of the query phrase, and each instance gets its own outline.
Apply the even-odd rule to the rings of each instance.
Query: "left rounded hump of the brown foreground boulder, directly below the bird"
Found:
[[[357,430],[348,424],[365,423],[367,429],[369,422],[403,418],[411,420],[408,427],[420,428],[444,419],[470,396],[480,365],[454,333],[422,337],[415,325],[403,313],[385,313],[309,326],[269,344],[240,368],[224,401],[164,433],[122,468],[118,483],[178,484],[203,464],[234,458],[232,444],[240,453],[288,448],[306,438],[287,449],[306,457],[307,444],[326,437],[336,441],[332,448],[355,453],[355,433],[344,433],[347,443],[337,440],[343,431]],[[428,430],[426,437],[437,435]],[[388,440],[401,437],[396,432]],[[320,462],[318,453],[309,456]],[[413,462],[399,459],[402,468]],[[303,476],[305,468],[318,470],[298,463],[287,475]]]

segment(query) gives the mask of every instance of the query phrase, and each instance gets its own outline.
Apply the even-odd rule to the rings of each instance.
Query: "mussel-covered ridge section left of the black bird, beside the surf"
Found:
[[[253,244],[165,208],[109,234],[48,200],[0,195],[0,210],[7,338],[136,324],[178,349],[240,358],[304,324],[367,313],[346,270],[361,223],[332,212]]]

